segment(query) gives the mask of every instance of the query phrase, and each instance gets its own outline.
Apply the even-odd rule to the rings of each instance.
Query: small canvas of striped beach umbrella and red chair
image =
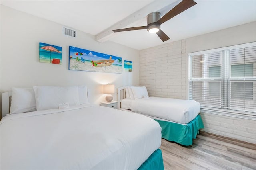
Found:
[[[61,64],[62,47],[39,43],[39,62]]]

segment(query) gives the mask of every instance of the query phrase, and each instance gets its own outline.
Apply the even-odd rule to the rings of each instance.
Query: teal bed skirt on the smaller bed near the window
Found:
[[[181,145],[192,145],[193,139],[196,139],[196,135],[199,133],[199,129],[204,128],[204,124],[200,115],[186,125],[156,120],[162,127],[162,138],[168,141],[174,141]]]

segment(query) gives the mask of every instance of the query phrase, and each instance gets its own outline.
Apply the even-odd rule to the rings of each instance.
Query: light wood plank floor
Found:
[[[256,169],[256,150],[197,135],[191,146],[162,139],[165,170]]]

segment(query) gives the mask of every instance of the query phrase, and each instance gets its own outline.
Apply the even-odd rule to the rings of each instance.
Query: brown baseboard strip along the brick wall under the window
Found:
[[[253,143],[240,141],[238,139],[232,139],[232,138],[229,138],[229,137],[224,137],[224,136],[221,136],[221,135],[216,135],[216,134],[201,131],[201,130],[199,130],[199,134],[202,135],[202,136],[212,137],[212,138],[218,139],[220,141],[232,143],[232,144],[235,144],[235,145],[238,145],[238,146],[241,146],[241,147],[246,147],[246,148],[249,148],[249,149],[256,150],[256,144],[253,144]]]

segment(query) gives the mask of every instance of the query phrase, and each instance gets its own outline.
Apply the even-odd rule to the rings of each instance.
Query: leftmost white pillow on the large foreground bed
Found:
[[[35,93],[32,88],[12,88],[10,113],[36,111]]]

